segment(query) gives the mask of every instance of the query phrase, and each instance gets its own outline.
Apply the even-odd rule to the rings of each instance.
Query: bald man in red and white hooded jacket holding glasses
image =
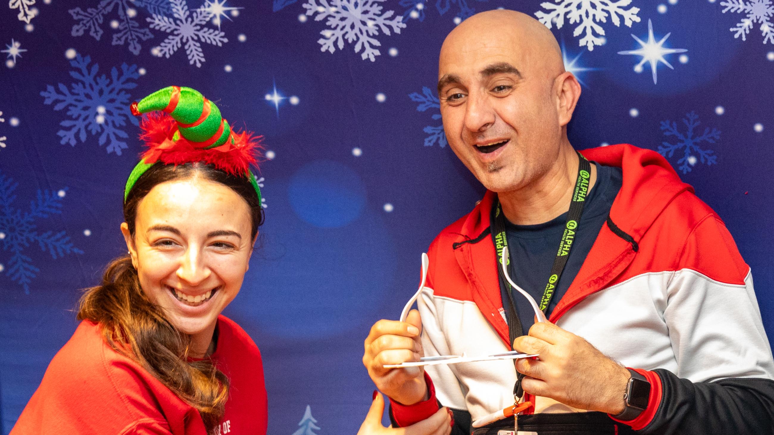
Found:
[[[449,406],[452,433],[506,435],[513,417],[471,423],[517,401],[532,403],[519,433],[772,433],[750,268],[662,156],[574,150],[580,85],[552,33],[519,12],[474,15],[444,41],[438,77],[450,147],[488,191],[430,245],[419,312],[365,341],[393,423]],[[383,367],[511,349],[539,357]]]

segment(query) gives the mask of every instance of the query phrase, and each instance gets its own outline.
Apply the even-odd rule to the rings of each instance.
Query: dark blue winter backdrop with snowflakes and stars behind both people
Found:
[[[420,252],[483,193],[441,128],[440,44],[500,7],[560,39],[583,84],[577,148],[662,152],[724,218],[774,336],[771,0],[11,0],[2,432],[74,331],[80,289],[125,252],[122,189],[140,152],[128,104],[178,84],[265,135],[266,224],[226,313],[261,348],[269,433],[355,433],[373,389],[368,328],[399,317]]]

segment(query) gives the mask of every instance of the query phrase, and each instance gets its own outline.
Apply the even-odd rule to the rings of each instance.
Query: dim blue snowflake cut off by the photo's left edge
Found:
[[[36,199],[30,201],[29,211],[22,213],[21,210],[12,207],[13,200],[16,199],[13,192],[18,186],[19,183],[14,183],[11,178],[0,173],[0,245],[3,251],[11,252],[11,259],[6,266],[0,265],[0,272],[8,269],[6,273],[11,280],[20,284],[25,293],[29,293],[29,283],[40,272],[40,269],[33,265],[33,259],[23,254],[30,243],[37,242],[43,252],[49,252],[53,259],[65,254],[84,252],[73,246],[70,237],[64,234],[65,231],[56,234],[53,231],[46,231],[43,234],[35,231],[36,219],[45,219],[52,214],[62,213],[61,201],[67,192],[67,187],[57,193],[38,190]]]

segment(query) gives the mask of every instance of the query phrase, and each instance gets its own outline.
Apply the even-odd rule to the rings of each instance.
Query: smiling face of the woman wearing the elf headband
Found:
[[[135,234],[122,224],[143,292],[181,332],[209,344],[217,316],[237,296],[253,241],[247,202],[194,176],[159,183],[140,200]]]

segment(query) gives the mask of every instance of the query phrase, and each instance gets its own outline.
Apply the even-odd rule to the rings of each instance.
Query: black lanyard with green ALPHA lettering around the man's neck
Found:
[[[584,157],[578,155],[578,174],[577,180],[575,180],[575,189],[573,191],[573,199],[570,202],[570,211],[567,212],[567,221],[564,223],[564,232],[562,239],[559,243],[559,249],[557,251],[557,257],[553,259],[553,267],[551,268],[551,274],[548,277],[548,283],[546,283],[545,289],[543,289],[543,296],[538,301],[540,310],[543,313],[548,312],[548,307],[553,298],[554,290],[559,284],[559,279],[564,271],[564,266],[567,265],[567,258],[570,257],[570,248],[573,246],[575,235],[580,226],[580,215],[583,214],[583,207],[586,204],[586,195],[588,194],[588,184],[591,180],[591,163]],[[500,286],[505,289],[505,293],[508,293],[509,307],[506,310],[506,318],[508,320],[508,333],[511,340],[511,344],[516,339],[524,334],[522,328],[522,322],[519,320],[519,315],[516,313],[516,306],[513,302],[513,289],[508,281],[505,279],[505,274],[502,272],[502,266],[500,265],[500,256],[502,255],[502,249],[508,246],[508,237],[505,233],[505,216],[502,213],[502,207],[500,207],[499,200],[493,205],[495,207],[495,219],[492,221],[492,234],[495,241],[495,252],[497,252],[497,272],[500,277]],[[510,250],[509,250],[510,254]],[[509,275],[513,274],[513,262],[511,255],[508,259]],[[548,317],[546,315],[546,317]],[[513,396],[518,401],[521,398],[524,391],[522,390],[522,378],[524,375],[516,373],[516,384],[513,387]]]

